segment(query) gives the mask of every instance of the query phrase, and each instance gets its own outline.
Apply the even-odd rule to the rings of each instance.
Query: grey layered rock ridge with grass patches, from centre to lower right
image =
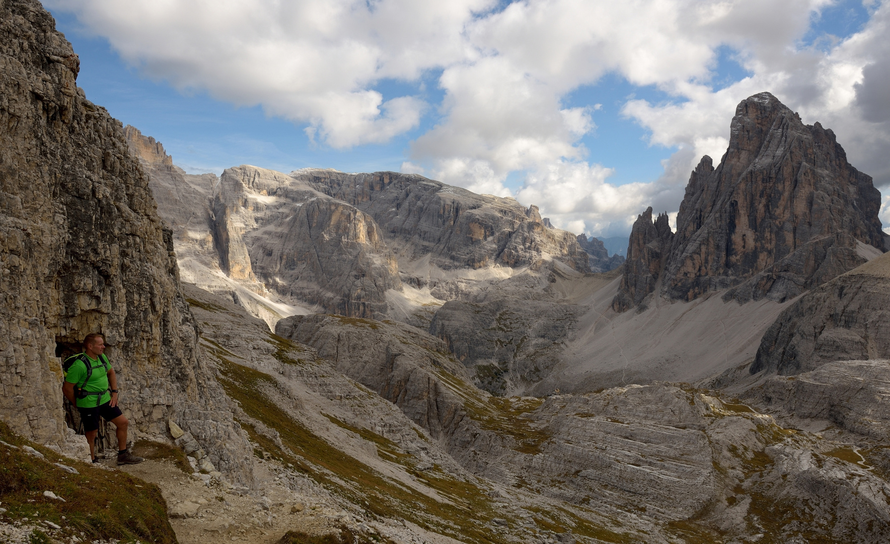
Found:
[[[582,518],[633,510],[637,522],[625,518],[622,531],[685,520],[684,531],[702,541],[718,533],[794,541],[819,520],[830,520],[821,531],[833,538],[880,541],[890,531],[885,480],[846,460],[842,443],[783,428],[737,401],[663,383],[498,398],[466,384],[456,362],[439,367],[441,342],[409,327],[317,315],[289,317],[277,331],[308,340],[337,370],[435,428],[433,437],[473,474],[540,500],[585,504]],[[856,397],[853,377],[846,381]],[[702,504],[711,507],[702,512]]]

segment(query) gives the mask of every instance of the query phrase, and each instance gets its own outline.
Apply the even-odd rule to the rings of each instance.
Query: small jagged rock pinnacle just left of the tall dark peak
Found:
[[[655,290],[673,236],[667,214],[659,214],[652,223],[652,208],[648,207],[643,215],[637,216],[627,244],[627,264],[619,293],[612,300],[612,309],[624,312],[642,303],[643,298]]]

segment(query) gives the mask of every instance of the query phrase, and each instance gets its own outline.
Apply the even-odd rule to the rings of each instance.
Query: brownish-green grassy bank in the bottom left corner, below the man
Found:
[[[65,527],[69,534],[84,532],[86,540],[176,542],[157,485],[121,470],[102,470],[63,458],[12,434],[2,421],[0,437],[18,446],[0,444],[0,500],[8,510],[3,515],[7,521],[22,517],[48,520]],[[20,449],[23,445],[40,451],[45,459],[26,454]],[[69,474],[53,463],[74,467],[80,474]],[[44,491],[53,491],[65,502],[45,498]],[[32,541],[40,538],[32,536]]]

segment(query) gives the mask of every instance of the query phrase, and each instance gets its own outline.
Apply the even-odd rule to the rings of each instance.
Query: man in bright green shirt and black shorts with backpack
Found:
[[[105,338],[101,334],[86,335],[84,353],[72,356],[75,361],[65,373],[61,391],[80,412],[93,463],[96,462],[96,434],[99,432],[100,416],[117,427],[117,464],[142,463],[145,459],[134,456],[126,449],[126,427],[130,422],[117,406],[117,376],[104,352]],[[87,364],[91,367],[89,372]]]

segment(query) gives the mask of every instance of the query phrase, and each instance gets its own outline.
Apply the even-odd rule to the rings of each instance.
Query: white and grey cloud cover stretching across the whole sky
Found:
[[[676,213],[702,155],[727,144],[736,104],[770,91],[805,122],[833,128],[853,164],[890,185],[890,3],[845,39],[801,42],[832,0],[50,0],[108,37],[128,62],[180,89],[206,90],[305,126],[336,148],[387,142],[439,121],[402,168],[472,191],[514,196],[557,225],[627,232],[646,206]],[[713,85],[718,53],[748,72]],[[441,103],[384,97],[386,78],[441,72]],[[676,148],[651,183],[616,186],[581,139],[597,105],[566,97],[613,73],[669,97],[630,98],[622,113],[651,145]],[[595,88],[595,87],[594,87]],[[890,220],[886,207],[882,212]]]

